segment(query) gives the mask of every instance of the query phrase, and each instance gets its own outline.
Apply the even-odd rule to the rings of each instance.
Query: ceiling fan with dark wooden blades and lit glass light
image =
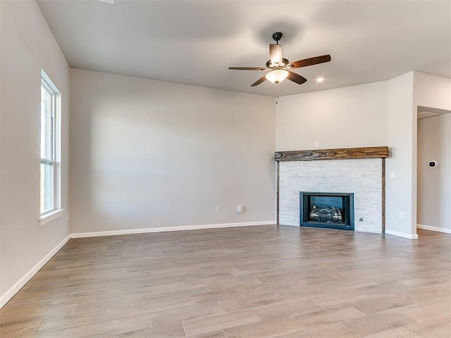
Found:
[[[307,67],[307,65],[317,65],[319,63],[325,63],[330,61],[330,55],[316,56],[314,58],[304,58],[304,60],[299,60],[295,62],[288,61],[282,56],[282,46],[279,44],[279,40],[282,39],[282,33],[276,32],[273,34],[273,39],[276,44],[269,45],[269,60],[266,62],[266,67],[229,67],[228,69],[235,70],[269,70],[264,76],[260,77],[259,80],[254,82],[251,87],[257,86],[269,80],[273,83],[279,83],[288,78],[292,82],[297,84],[303,84],[307,79],[297,73],[290,70]]]

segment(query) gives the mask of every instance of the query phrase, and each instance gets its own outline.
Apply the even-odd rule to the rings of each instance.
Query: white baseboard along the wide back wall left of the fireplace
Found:
[[[121,235],[121,234],[144,234],[147,232],[216,229],[218,227],[252,227],[255,225],[276,225],[276,221],[275,220],[267,220],[264,222],[222,223],[222,224],[204,224],[204,225],[185,225],[185,226],[181,226],[181,227],[149,227],[149,228],[144,228],[144,229],[111,230],[111,231],[99,231],[99,232],[78,232],[75,234],[70,234],[70,238],[117,236],[117,235]]]

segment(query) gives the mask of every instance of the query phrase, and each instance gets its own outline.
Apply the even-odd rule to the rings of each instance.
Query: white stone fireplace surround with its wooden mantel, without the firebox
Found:
[[[388,147],[278,151],[277,220],[299,226],[299,192],[354,193],[354,231],[385,232]]]

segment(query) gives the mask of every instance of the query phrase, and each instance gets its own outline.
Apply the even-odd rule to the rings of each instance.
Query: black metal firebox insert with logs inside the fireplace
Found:
[[[299,225],[354,230],[354,194],[299,192]]]

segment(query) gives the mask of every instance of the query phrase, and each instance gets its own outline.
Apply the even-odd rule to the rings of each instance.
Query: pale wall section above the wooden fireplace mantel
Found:
[[[387,82],[280,97],[276,150],[387,145]]]

